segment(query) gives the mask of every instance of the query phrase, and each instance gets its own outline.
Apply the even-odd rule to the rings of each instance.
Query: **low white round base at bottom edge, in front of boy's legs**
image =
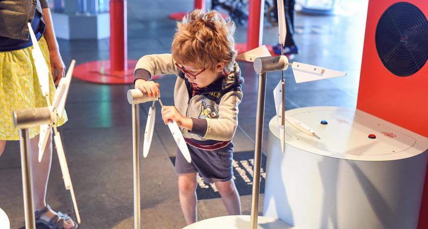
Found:
[[[257,219],[258,229],[299,229],[295,226],[290,226],[282,220],[259,216]],[[205,219],[183,229],[250,229],[249,215],[231,215],[221,216],[216,218]]]

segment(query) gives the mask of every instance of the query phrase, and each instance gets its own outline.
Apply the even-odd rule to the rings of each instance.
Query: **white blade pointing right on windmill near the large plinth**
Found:
[[[315,65],[308,65],[299,62],[293,62],[291,65],[296,82],[308,82],[318,79],[328,79],[333,77],[345,76],[346,73],[339,72]]]

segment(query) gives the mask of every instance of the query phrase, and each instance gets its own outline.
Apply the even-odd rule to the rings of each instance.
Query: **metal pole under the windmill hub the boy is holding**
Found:
[[[134,229],[141,228],[140,199],[140,112],[139,104],[132,104],[132,167],[134,197]]]

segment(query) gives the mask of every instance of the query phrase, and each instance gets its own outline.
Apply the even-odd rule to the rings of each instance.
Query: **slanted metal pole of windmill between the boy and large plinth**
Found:
[[[258,203],[260,192],[261,147],[263,141],[264,100],[266,97],[267,73],[259,74],[256,113],[256,142],[254,147],[253,194],[251,201],[251,228],[257,228]]]

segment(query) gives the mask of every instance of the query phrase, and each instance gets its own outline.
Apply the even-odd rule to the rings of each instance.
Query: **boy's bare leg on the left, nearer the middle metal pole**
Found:
[[[198,220],[196,212],[196,173],[179,174],[178,190],[184,219],[190,225]]]

